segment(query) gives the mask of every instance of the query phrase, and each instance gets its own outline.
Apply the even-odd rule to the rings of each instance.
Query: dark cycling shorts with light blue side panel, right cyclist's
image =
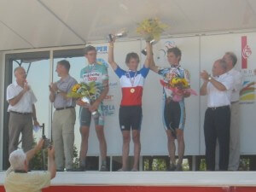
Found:
[[[171,131],[176,129],[183,130],[186,119],[184,101],[173,102],[171,99],[166,99],[163,104],[163,123],[165,129]]]

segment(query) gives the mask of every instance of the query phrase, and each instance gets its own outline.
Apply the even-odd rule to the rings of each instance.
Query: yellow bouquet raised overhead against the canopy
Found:
[[[166,29],[166,24],[160,22],[159,19],[146,19],[140,22],[137,26],[137,33],[142,35],[146,41],[155,39],[158,41],[160,35]]]

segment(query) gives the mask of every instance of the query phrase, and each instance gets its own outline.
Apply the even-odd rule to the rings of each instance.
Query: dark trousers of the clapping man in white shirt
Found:
[[[219,143],[219,170],[228,170],[230,156],[230,107],[207,108],[204,131],[207,170],[215,170],[217,139]]]

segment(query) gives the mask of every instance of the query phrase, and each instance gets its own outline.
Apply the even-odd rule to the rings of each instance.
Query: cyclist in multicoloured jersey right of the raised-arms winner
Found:
[[[171,67],[157,67],[154,61],[150,69],[163,77],[164,84],[173,83],[172,79],[183,79],[185,84],[189,84],[189,72],[180,66],[181,50],[173,47],[167,50],[167,60]],[[185,125],[185,103],[184,97],[190,96],[189,91],[174,91],[169,86],[163,88],[163,123],[166,129],[168,139],[168,151],[170,155],[170,170],[182,171],[183,154],[185,143],[183,138],[183,129]],[[177,99],[179,98],[179,99]],[[177,138],[178,161],[175,159],[175,139]]]

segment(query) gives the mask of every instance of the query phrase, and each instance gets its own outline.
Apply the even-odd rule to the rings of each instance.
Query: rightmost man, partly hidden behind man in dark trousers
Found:
[[[240,160],[240,129],[239,129],[239,98],[242,86],[242,76],[235,69],[236,55],[232,52],[226,52],[224,61],[227,63],[228,73],[234,79],[233,90],[231,91],[231,119],[230,119],[230,161],[229,171],[237,171]]]

